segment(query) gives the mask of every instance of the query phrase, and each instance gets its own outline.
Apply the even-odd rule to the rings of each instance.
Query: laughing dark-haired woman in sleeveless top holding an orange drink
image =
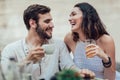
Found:
[[[105,30],[95,8],[88,3],[78,3],[70,14],[71,32],[65,36],[68,50],[73,53],[74,63],[79,68],[88,68],[96,77],[115,80],[115,45]],[[85,51],[85,41],[94,40],[93,48]],[[88,45],[87,47],[90,47]],[[86,58],[86,53],[94,53]]]

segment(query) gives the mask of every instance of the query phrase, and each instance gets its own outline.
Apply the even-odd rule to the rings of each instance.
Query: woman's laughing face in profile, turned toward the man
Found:
[[[72,32],[80,31],[81,23],[83,20],[83,13],[78,7],[74,7],[70,13],[69,22],[72,26]]]

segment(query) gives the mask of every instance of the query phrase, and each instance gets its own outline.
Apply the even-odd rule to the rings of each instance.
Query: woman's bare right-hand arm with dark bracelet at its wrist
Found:
[[[103,56],[101,57],[104,62],[109,61],[108,56],[111,59],[112,65],[109,68],[104,68],[104,77],[108,80],[115,80],[115,44],[111,36],[104,35],[101,37],[100,46],[103,49]]]

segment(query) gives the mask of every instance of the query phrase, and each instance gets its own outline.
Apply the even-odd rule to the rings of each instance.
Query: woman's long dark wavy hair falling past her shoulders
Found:
[[[97,40],[103,34],[108,34],[105,30],[105,25],[101,22],[99,15],[95,8],[88,3],[78,3],[74,7],[78,7],[83,13],[83,21],[81,29],[86,36],[86,39]],[[73,32],[73,40],[78,41],[78,33]]]

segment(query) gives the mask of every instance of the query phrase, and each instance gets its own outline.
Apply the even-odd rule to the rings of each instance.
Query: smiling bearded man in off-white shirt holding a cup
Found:
[[[10,57],[14,57],[17,62],[24,63],[24,69],[31,72],[33,80],[49,80],[61,69],[75,69],[81,76],[94,73],[87,69],[79,70],[73,63],[65,44],[61,41],[53,40],[53,23],[50,15],[50,8],[44,5],[33,4],[24,11],[24,23],[28,29],[25,39],[9,44],[2,51],[1,64],[4,72]],[[54,52],[45,55],[42,48],[44,44],[54,44]],[[32,62],[33,64],[29,64]]]

